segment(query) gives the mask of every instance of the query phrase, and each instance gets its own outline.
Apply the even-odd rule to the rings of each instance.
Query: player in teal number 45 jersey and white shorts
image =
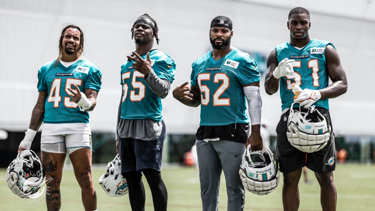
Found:
[[[95,108],[102,74],[95,64],[83,57],[83,44],[80,27],[69,25],[62,30],[57,59],[38,71],[39,97],[18,149],[18,152],[30,149],[36,131],[43,123],[42,166],[46,178],[52,178],[46,194],[47,210],[60,210],[60,183],[67,153],[81,187],[84,209],[96,210],[88,111]]]

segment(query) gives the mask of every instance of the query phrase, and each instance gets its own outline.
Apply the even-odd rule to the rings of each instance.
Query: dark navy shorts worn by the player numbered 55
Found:
[[[165,139],[165,124],[162,121],[162,132],[156,140],[118,139],[120,150],[121,173],[155,169],[160,172],[162,152]]]

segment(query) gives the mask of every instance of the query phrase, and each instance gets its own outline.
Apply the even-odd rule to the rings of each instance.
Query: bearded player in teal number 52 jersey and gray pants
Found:
[[[212,50],[192,64],[191,86],[177,86],[173,96],[185,105],[201,105],[196,133],[201,198],[204,211],[217,210],[220,175],[224,171],[228,210],[243,210],[245,192],[239,177],[245,145],[263,148],[260,135],[262,101],[260,74],[247,53],[232,47],[232,21],[225,16],[211,21]],[[251,118],[246,114],[246,101]]]

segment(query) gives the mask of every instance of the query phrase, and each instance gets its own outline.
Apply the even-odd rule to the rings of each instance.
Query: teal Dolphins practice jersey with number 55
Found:
[[[146,60],[146,53],[141,57]],[[157,49],[150,52],[151,68],[155,74],[171,83],[174,80],[176,65],[171,57]],[[133,69],[134,63],[128,60],[121,66],[122,119],[153,119],[162,121],[162,102],[144,81],[144,75]]]

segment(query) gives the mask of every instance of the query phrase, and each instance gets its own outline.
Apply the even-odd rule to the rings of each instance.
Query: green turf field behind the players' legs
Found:
[[[45,202],[29,202],[8,192],[5,182],[5,169],[0,169],[1,180],[0,210],[46,210]],[[126,196],[114,198],[108,196],[98,183],[103,170],[93,170],[96,193],[98,196],[98,209],[103,210],[130,210],[129,198]],[[338,164],[334,172],[338,191],[338,211],[373,211],[375,210],[375,166]],[[187,167],[166,167],[162,169],[162,177],[168,189],[168,210],[171,211],[199,211],[201,208],[198,171]],[[320,190],[314,173],[309,170],[312,184],[300,182],[300,210],[318,211],[320,206]],[[144,179],[146,190],[145,210],[153,210],[151,193]],[[246,191],[245,210],[282,210],[281,200],[282,180],[279,187],[267,196],[257,196]],[[81,191],[75,180],[72,170],[65,170],[61,186],[61,210],[83,210]],[[225,179],[222,175],[220,188],[219,210],[226,210]],[[261,208],[261,209],[260,209]]]

